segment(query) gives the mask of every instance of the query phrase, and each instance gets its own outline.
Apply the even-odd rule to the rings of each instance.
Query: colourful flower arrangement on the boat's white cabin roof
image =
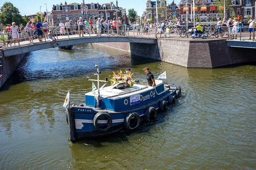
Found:
[[[128,74],[122,74],[122,71],[120,70],[119,72],[117,72],[117,74],[115,72],[113,72],[113,78],[110,79],[111,85],[114,86],[116,84],[118,84],[119,82],[126,82],[125,83],[125,87],[132,87],[134,85],[134,80],[132,79],[131,75]]]

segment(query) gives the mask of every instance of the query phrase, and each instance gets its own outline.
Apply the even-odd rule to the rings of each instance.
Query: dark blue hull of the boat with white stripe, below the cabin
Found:
[[[129,121],[136,120],[134,127],[138,127],[141,121],[148,121],[148,115],[155,111],[163,111],[163,103],[167,103],[175,97],[178,97],[180,93],[177,93],[178,88],[173,88],[162,93],[157,97],[152,97],[153,100],[143,105],[137,105],[137,107],[127,108],[125,110],[111,111],[106,109],[94,108],[92,106],[75,106],[67,108],[66,116],[70,130],[70,141],[76,142],[81,139],[105,136],[110,133],[116,133],[124,128],[133,130],[133,128],[127,128]],[[157,112],[155,112],[156,114]],[[100,114],[107,114],[106,117],[102,116],[96,119]],[[108,115],[110,116],[108,119]],[[134,116],[129,120],[129,116]],[[156,115],[155,115],[156,116]],[[108,124],[111,120],[111,125]],[[129,122],[129,125],[132,124]],[[130,126],[128,126],[130,127]],[[103,130],[102,130],[103,129]],[[106,130],[107,129],[107,130]]]

